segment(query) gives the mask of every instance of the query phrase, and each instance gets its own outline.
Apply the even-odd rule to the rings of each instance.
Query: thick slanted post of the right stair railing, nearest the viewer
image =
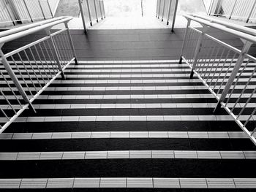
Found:
[[[241,64],[243,64],[244,58],[246,56],[246,53],[248,53],[249,48],[251,46],[252,46],[252,42],[249,42],[249,41],[244,42],[244,47],[241,50],[240,55],[238,56],[238,59],[236,61],[236,65],[234,66],[233,71],[231,72],[229,79],[227,80],[225,88],[222,91],[222,95],[219,98],[218,104],[217,104],[217,106],[214,109],[214,113],[216,113],[219,110],[219,108],[222,106],[221,103],[225,100],[228,91],[230,91],[230,87],[231,87],[231,85],[233,84],[233,82],[234,82],[234,80],[236,78],[236,74],[238,73],[238,71],[239,71],[239,69],[241,67]]]

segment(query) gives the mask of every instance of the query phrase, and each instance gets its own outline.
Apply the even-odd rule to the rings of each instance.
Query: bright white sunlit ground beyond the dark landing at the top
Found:
[[[61,0],[60,2],[57,10],[59,16],[78,17],[77,0]],[[175,1],[172,2],[175,4]],[[187,26],[187,20],[182,16],[184,14],[206,14],[210,3],[211,0],[179,0],[175,27],[185,28]],[[161,18],[156,18],[157,0],[104,0],[104,7],[106,18],[100,20],[99,23],[94,23],[93,26],[87,23],[89,29],[170,28],[171,26],[166,25],[166,20],[161,22]],[[81,22],[80,19],[74,19],[70,22],[70,26],[83,28]]]

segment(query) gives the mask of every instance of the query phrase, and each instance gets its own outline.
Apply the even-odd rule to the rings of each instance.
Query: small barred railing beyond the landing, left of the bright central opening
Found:
[[[103,0],[78,0],[78,3],[85,32],[86,25],[93,26],[99,20],[106,18]]]

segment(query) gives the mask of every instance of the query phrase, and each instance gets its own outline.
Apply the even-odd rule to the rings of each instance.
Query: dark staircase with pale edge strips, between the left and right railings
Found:
[[[176,60],[69,65],[37,114],[0,134],[1,191],[253,191],[255,145],[224,110],[212,114],[216,99],[190,71]]]

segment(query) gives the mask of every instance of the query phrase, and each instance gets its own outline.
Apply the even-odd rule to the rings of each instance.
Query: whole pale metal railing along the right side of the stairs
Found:
[[[256,145],[256,128],[252,123],[256,118],[256,86],[252,82],[256,77],[256,58],[249,55],[256,37],[201,18],[184,17],[188,22],[180,64],[184,60],[192,69],[190,78],[195,74],[217,99],[214,113],[223,107]],[[203,28],[194,28],[192,21]],[[217,39],[214,30],[240,38],[244,46],[238,49]]]

